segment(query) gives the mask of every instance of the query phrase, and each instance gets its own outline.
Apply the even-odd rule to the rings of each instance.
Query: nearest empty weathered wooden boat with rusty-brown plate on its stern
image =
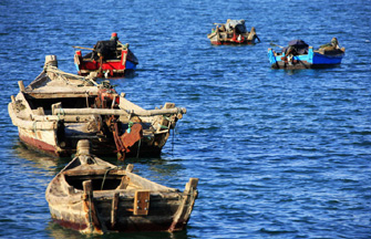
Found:
[[[80,141],[78,155],[49,184],[45,198],[52,218],[87,233],[109,231],[178,231],[185,229],[198,178],[185,190],[165,187],[90,154]]]

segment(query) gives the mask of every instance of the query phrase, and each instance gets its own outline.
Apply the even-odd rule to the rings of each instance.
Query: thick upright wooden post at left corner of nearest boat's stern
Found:
[[[101,229],[101,224],[97,219],[96,210],[94,207],[94,195],[92,180],[85,180],[82,183],[84,194],[83,194],[83,209],[85,211],[86,218],[86,230],[89,232],[103,233]]]

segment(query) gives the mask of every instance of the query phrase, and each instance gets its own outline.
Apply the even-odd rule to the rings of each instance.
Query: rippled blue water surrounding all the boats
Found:
[[[7,104],[45,55],[75,73],[72,45],[117,32],[140,60],[117,91],[187,108],[161,158],[126,163],[182,190],[198,177],[199,198],[186,231],[96,238],[371,238],[371,1],[2,0],[0,11],[0,237],[84,237],[54,225],[44,199],[69,158],[24,149]],[[210,45],[228,18],[262,42]],[[269,42],[332,37],[347,49],[339,67],[269,67]]]

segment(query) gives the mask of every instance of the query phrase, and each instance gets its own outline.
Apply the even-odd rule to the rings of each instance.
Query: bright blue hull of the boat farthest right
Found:
[[[344,52],[338,54],[315,52],[312,46],[310,46],[308,54],[287,58],[285,53],[277,54],[272,49],[268,49],[268,58],[272,69],[296,70],[333,67],[341,63],[343,55]]]

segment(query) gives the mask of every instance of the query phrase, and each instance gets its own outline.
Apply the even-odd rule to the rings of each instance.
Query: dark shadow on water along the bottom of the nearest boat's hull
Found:
[[[120,239],[120,238],[132,238],[132,239],[145,239],[145,238],[153,238],[153,239],[185,239],[185,238],[196,238],[194,236],[188,236],[187,230],[177,231],[177,232],[110,232],[105,235],[83,235],[79,231],[65,229],[58,225],[56,222],[50,221],[45,231],[49,233],[51,238],[69,238],[69,239]]]

